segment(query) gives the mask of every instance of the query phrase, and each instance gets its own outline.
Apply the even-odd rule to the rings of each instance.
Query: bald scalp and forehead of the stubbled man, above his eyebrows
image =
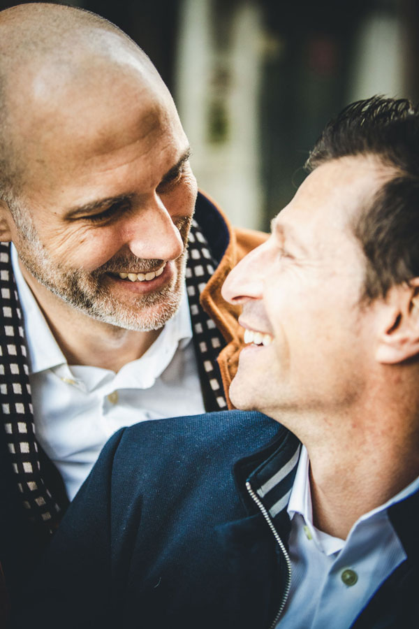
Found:
[[[123,177],[123,164],[155,143],[170,148],[160,160],[165,173],[187,143],[147,55],[87,11],[29,3],[0,12],[0,79],[2,131],[19,194],[40,181],[50,191],[74,175],[81,185],[110,168]]]

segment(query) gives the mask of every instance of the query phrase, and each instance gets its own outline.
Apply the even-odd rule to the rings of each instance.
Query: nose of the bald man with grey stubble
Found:
[[[124,243],[138,258],[175,260],[182,254],[184,243],[174,220],[161,198],[154,195],[127,217]]]

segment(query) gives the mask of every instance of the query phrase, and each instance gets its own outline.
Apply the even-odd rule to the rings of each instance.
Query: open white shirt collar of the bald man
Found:
[[[58,368],[63,365],[67,366],[66,358],[61,352],[47,321],[45,321],[45,317],[43,317],[31,289],[29,289],[27,282],[24,280],[19,266],[17,251],[13,244],[11,245],[11,261],[24,317],[30,359],[30,373],[34,374],[47,369]],[[186,288],[184,288],[179,310],[177,310],[175,316],[166,323],[161,334],[151,347],[147,349],[147,352],[138,359],[138,361],[141,361],[142,374],[140,386],[144,389],[152,386],[156,378],[163,373],[163,370],[166,369],[172,360],[177,347],[179,346],[181,349],[186,347],[191,338],[191,315],[189,312]],[[138,363],[138,361],[133,361],[133,363]],[[128,363],[128,365],[130,364],[131,363]],[[124,388],[139,386],[138,379],[133,376],[133,370],[127,369],[128,365],[119,370],[117,377],[123,378]],[[108,370],[100,371],[112,373]],[[96,376],[97,375],[96,373]],[[133,378],[135,382],[131,382]],[[102,377],[99,379],[102,379]],[[91,378],[89,378],[89,380],[91,380]],[[98,378],[93,376],[91,382],[97,384],[97,381]],[[89,383],[87,383],[87,388],[91,389]]]

